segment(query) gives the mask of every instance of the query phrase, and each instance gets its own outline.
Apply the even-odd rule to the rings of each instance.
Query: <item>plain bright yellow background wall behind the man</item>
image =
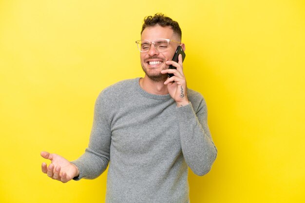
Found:
[[[62,184],[40,151],[84,152],[98,93],[143,76],[143,18],[178,21],[218,157],[191,203],[305,202],[304,0],[0,0],[0,202],[104,202],[106,173]]]

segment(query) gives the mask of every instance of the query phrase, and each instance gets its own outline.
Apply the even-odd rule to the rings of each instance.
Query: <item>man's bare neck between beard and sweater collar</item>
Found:
[[[155,82],[145,75],[144,78],[140,79],[139,84],[142,89],[150,94],[166,95],[169,91],[167,86],[164,85],[164,82],[165,81]]]

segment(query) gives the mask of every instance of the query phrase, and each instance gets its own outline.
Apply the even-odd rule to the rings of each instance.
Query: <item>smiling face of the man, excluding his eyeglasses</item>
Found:
[[[172,39],[180,41],[180,38],[173,33],[171,27],[161,27],[159,25],[145,28],[141,35],[141,39],[146,39],[151,42],[157,39]],[[155,50],[154,45],[152,44],[148,52],[141,52],[141,66],[145,74],[153,81],[165,81],[168,76],[167,74],[161,74],[160,71],[169,68],[165,62],[172,60],[178,46],[178,43],[170,42],[169,48],[166,51],[159,52]]]

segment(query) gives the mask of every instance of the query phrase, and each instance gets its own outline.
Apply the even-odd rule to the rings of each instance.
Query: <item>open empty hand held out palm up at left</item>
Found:
[[[41,165],[42,172],[46,173],[50,178],[66,183],[78,176],[79,171],[76,165],[70,163],[62,156],[49,152],[40,152],[40,155],[52,161],[49,167],[47,167],[46,163]]]

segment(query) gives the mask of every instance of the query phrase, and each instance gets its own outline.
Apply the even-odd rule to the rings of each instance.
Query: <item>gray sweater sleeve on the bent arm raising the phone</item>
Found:
[[[195,174],[205,175],[217,155],[208,127],[206,102],[201,97],[196,112],[191,102],[177,107],[177,118],[185,161]]]

